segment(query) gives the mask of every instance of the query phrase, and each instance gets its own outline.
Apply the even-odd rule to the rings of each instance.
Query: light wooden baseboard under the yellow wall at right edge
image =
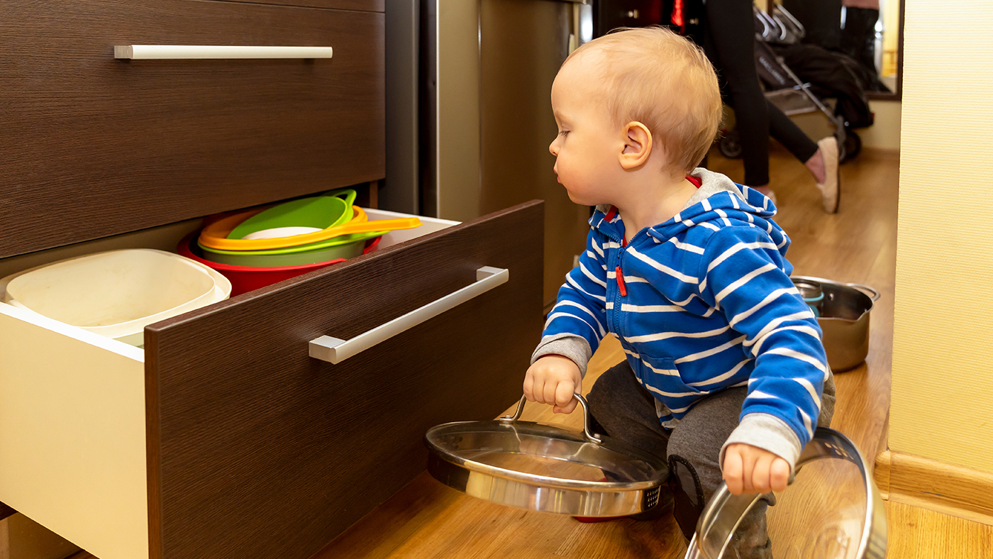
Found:
[[[873,478],[888,500],[993,525],[993,474],[885,450]]]

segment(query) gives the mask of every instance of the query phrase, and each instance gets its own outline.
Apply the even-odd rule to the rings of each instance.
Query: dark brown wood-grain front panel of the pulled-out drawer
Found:
[[[428,428],[516,401],[542,221],[528,203],[149,327],[152,559],[306,559],[424,470]],[[483,266],[509,280],[338,364],[309,356]]]

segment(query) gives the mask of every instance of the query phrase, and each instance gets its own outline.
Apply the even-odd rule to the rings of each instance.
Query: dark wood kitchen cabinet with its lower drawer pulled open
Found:
[[[7,0],[4,267],[382,179],[383,6]],[[334,57],[128,62],[122,45]],[[145,349],[0,304],[0,500],[100,559],[310,557],[424,469],[429,427],[519,397],[541,332],[542,211],[435,220],[151,325]],[[308,353],[485,266],[508,281],[338,364]]]

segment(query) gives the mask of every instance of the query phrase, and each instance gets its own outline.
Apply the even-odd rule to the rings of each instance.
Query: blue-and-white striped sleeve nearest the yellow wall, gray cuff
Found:
[[[701,297],[724,313],[731,328],[745,337],[746,356],[756,359],[741,419],[766,414],[788,426],[796,436],[789,441],[795,456],[776,454],[792,466],[813,436],[829,374],[817,320],[789,279],[791,266],[759,228],[715,231],[700,268]],[[781,438],[782,431],[753,429],[757,442],[742,442],[781,449],[784,441],[758,443]]]

